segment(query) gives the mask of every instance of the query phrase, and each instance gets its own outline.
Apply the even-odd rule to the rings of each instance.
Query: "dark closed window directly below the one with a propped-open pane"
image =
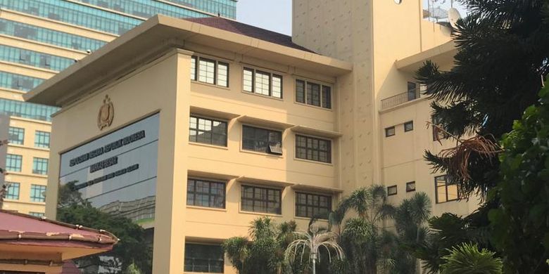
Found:
[[[282,191],[242,185],[241,210],[270,214],[282,214],[280,200]]]

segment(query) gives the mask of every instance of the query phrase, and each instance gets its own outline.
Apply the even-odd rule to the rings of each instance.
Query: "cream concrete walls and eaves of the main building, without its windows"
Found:
[[[431,120],[429,100],[382,105],[408,89],[423,60],[451,66],[450,30],[421,15],[415,1],[295,0],[294,42],[320,54],[187,20],[151,18],[25,95],[62,108],[53,117],[46,216],[56,216],[61,154],[154,113],[160,115],[156,217],[146,225],[155,232],[153,273],[185,273],[186,243],[220,244],[247,235],[258,216],[296,220],[305,229],[308,218],[296,216],[297,192],[330,196],[334,207],[341,195],[382,183],[397,185],[390,200],[398,204],[412,194],[405,183],[415,181],[416,191],[435,204],[434,177],[441,174],[431,174],[422,153],[451,143],[434,142],[424,128]],[[227,63],[229,87],[191,80],[191,56]],[[245,92],[244,67],[281,75],[282,98]],[[331,86],[332,107],[296,102],[298,79]],[[106,96],[115,115],[100,130],[97,115]],[[227,122],[227,145],[189,142],[191,115]],[[405,132],[409,121],[414,128]],[[242,149],[244,125],[281,131],[282,155]],[[386,137],[391,126],[395,135]],[[298,134],[330,140],[332,161],[296,157]],[[224,182],[225,207],[186,206],[187,178]],[[244,185],[281,190],[281,214],[243,211]],[[450,201],[435,204],[434,214],[474,208],[472,200]],[[224,273],[235,273],[227,259]]]

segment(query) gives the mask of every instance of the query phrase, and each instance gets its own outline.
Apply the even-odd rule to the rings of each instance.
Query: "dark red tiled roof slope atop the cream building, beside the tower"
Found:
[[[207,25],[208,27],[215,27],[220,30],[227,30],[228,32],[234,32],[237,34],[246,35],[248,37],[253,37],[255,39],[260,39],[263,41],[271,42],[274,44],[279,44],[281,46],[288,46],[290,48],[296,48],[301,51],[310,51],[308,48],[294,44],[291,41],[291,36],[284,35],[278,32],[271,32],[270,30],[265,30],[260,27],[254,27],[252,25],[246,25],[241,22],[236,22],[234,20],[229,20],[222,17],[206,17],[206,18],[184,18],[191,22],[196,22],[198,24]]]

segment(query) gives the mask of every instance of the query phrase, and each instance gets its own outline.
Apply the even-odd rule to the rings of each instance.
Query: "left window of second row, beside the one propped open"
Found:
[[[191,116],[189,141],[209,145],[227,146],[227,122]]]

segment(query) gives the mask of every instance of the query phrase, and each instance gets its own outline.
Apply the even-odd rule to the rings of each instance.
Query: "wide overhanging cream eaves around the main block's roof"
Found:
[[[291,65],[329,77],[347,74],[353,67],[346,61],[310,51],[190,20],[156,15],[47,79],[23,98],[32,103],[63,107],[158,58],[170,48],[184,48],[186,42]]]

